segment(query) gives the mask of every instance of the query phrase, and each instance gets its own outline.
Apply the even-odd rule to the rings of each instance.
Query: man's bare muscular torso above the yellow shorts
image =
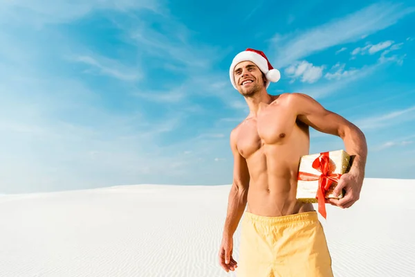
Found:
[[[308,126],[297,120],[284,95],[274,96],[236,131],[250,173],[247,211],[268,217],[314,211],[295,197],[299,158],[309,150]]]

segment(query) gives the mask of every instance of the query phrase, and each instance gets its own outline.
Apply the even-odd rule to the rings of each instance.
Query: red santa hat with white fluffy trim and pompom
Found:
[[[230,82],[235,89],[237,86],[234,80],[234,68],[239,62],[246,62],[250,61],[256,64],[265,76],[266,76],[266,88],[270,85],[270,82],[278,82],[279,78],[281,78],[281,74],[279,73],[278,69],[274,69],[273,66],[268,61],[268,58],[262,51],[258,51],[255,49],[247,48],[246,51],[242,51],[238,53],[232,60],[232,64],[230,65],[229,75],[230,75]]]

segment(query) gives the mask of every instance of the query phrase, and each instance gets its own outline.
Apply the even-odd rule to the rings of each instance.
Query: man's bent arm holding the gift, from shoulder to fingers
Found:
[[[360,197],[367,160],[367,142],[363,132],[342,116],[322,107],[319,102],[302,93],[291,93],[290,105],[297,111],[297,118],[317,131],[339,136],[345,150],[354,156],[349,173],[342,175],[335,194],[346,190],[344,198],[329,199],[329,202],[341,208],[349,208]]]

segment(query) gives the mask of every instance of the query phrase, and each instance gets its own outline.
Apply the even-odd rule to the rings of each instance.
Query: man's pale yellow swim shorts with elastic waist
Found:
[[[241,220],[238,277],[333,277],[326,236],[315,211]]]

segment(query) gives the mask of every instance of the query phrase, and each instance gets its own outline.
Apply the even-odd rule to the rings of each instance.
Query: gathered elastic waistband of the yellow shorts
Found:
[[[264,224],[287,224],[287,223],[295,223],[295,222],[317,222],[318,216],[316,211],[310,211],[305,213],[296,213],[294,215],[282,215],[278,217],[265,217],[262,215],[255,215],[253,213],[249,213],[247,211],[244,212],[246,220],[250,220],[252,222],[259,222]]]

